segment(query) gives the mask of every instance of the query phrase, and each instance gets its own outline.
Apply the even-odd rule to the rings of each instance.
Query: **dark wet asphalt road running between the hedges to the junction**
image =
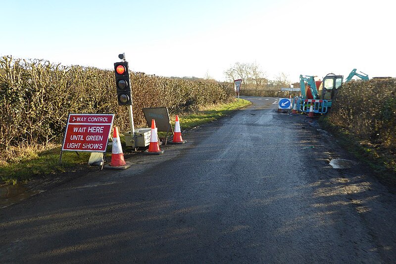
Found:
[[[332,168],[351,157],[315,121],[245,98],[163,155],[0,209],[0,263],[394,263],[396,196]]]

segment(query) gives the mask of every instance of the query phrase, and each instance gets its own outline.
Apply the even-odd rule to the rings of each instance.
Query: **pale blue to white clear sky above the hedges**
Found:
[[[0,55],[133,71],[206,73],[235,62],[284,72],[396,76],[392,0],[0,0]]]

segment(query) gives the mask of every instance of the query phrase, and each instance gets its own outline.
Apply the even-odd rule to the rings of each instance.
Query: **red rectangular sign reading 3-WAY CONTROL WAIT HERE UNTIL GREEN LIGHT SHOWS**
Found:
[[[62,151],[106,152],[114,114],[69,114]]]

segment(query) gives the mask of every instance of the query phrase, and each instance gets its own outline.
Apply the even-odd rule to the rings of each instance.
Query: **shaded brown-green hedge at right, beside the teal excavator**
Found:
[[[328,122],[360,141],[370,158],[396,173],[396,79],[343,84]]]

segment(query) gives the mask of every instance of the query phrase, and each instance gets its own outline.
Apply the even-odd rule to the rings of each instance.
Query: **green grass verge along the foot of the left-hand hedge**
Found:
[[[179,115],[182,129],[189,130],[199,125],[212,122],[223,116],[229,115],[232,111],[241,109],[249,105],[250,102],[244,99],[228,104],[212,105],[198,109],[194,113]],[[174,118],[171,118],[174,125]],[[121,144],[125,147],[125,137],[121,133]],[[13,148],[7,157],[0,161],[0,184],[26,183],[35,178],[49,178],[68,171],[75,171],[86,166],[90,152],[70,152],[64,151],[62,162],[59,163],[60,144],[47,146],[19,146]],[[107,151],[111,153],[111,147]]]

